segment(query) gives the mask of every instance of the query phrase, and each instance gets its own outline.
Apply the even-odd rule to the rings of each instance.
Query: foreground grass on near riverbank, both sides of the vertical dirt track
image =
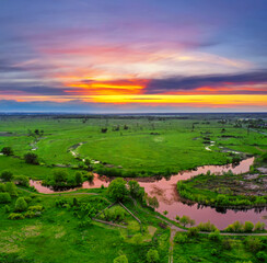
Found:
[[[93,205],[96,204],[96,199],[107,198],[106,190],[98,190],[97,194],[97,196],[90,195],[83,190],[59,196],[58,194],[31,194],[19,190],[19,196],[13,197],[9,204],[11,209],[9,213],[14,210],[19,197],[26,198],[28,207],[37,205],[44,206],[45,209],[39,217],[11,220],[8,219],[9,213],[4,205],[0,204],[0,262],[113,263],[115,258],[125,254],[129,263],[146,263],[150,249],[159,252],[158,263],[169,262],[170,229],[162,228],[159,218],[155,217],[156,214],[151,209],[135,206],[130,201],[125,202],[125,205],[142,221],[143,233],[140,235],[140,229],[132,224],[129,215],[126,217],[127,229],[95,221],[80,227],[79,222],[82,219],[74,216],[74,207],[56,205],[59,199],[73,204],[76,198],[78,202]],[[102,208],[108,204],[108,201],[106,202]],[[247,248],[245,238],[221,237],[220,240],[210,240],[207,235],[194,237],[181,235],[186,236],[187,241],[176,243],[174,239],[174,262],[263,262],[258,260],[258,251],[265,251],[267,245],[266,237],[254,238],[257,245]],[[138,239],[135,238],[137,236]],[[224,240],[231,244],[230,248],[225,247]]]

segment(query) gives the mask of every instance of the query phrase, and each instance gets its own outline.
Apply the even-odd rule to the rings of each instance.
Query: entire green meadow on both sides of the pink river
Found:
[[[13,152],[0,156],[0,172],[1,176],[4,170],[12,172],[14,181],[18,175],[43,181],[51,176],[56,180],[57,175],[63,183],[77,172],[88,180],[89,171],[109,176],[167,176],[252,155],[256,158],[254,171],[256,165],[266,165],[267,136],[260,127],[248,125],[237,115],[1,115],[0,150],[11,147]],[[24,155],[28,152],[37,155],[38,164],[26,163]],[[58,169],[61,172],[55,173]],[[212,178],[208,183],[197,181],[202,179],[198,176],[185,184],[196,194],[205,194],[217,183],[216,187],[224,191],[231,186],[227,176],[221,181]],[[236,180],[242,180],[239,176]],[[136,201],[127,190],[123,202],[140,224],[118,203],[107,208],[114,198],[104,187],[46,195],[21,184],[12,190],[11,183],[0,183],[3,263],[127,262],[115,260],[119,256],[126,256],[129,263],[266,260],[266,237],[214,238],[194,231],[176,233],[185,238],[173,237],[181,225],[170,225],[170,219],[147,206],[141,188],[132,191]],[[150,252],[154,260],[148,256]]]

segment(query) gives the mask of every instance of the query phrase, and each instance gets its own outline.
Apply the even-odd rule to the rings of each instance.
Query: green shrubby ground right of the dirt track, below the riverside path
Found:
[[[187,233],[177,233],[174,239],[174,262],[264,262],[266,237],[213,237],[198,235],[188,238]]]

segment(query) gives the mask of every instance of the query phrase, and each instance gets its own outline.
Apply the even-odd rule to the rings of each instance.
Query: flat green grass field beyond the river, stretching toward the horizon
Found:
[[[236,118],[236,117],[235,117]],[[114,167],[137,176],[176,173],[204,164],[231,162],[231,150],[262,156],[267,151],[267,137],[245,126],[235,127],[235,118],[227,123],[217,118],[188,119],[171,117],[59,117],[2,116],[0,148],[10,146],[14,155],[28,151],[38,155],[44,167],[23,164],[23,160],[0,157],[0,170],[11,168],[15,173],[44,179],[50,173],[47,165],[78,165],[80,160],[101,161],[98,167]],[[102,133],[102,128],[107,128]],[[44,130],[36,135],[34,130]],[[79,155],[80,160],[70,151]],[[207,148],[208,147],[208,148]],[[70,169],[69,173],[72,171]]]

